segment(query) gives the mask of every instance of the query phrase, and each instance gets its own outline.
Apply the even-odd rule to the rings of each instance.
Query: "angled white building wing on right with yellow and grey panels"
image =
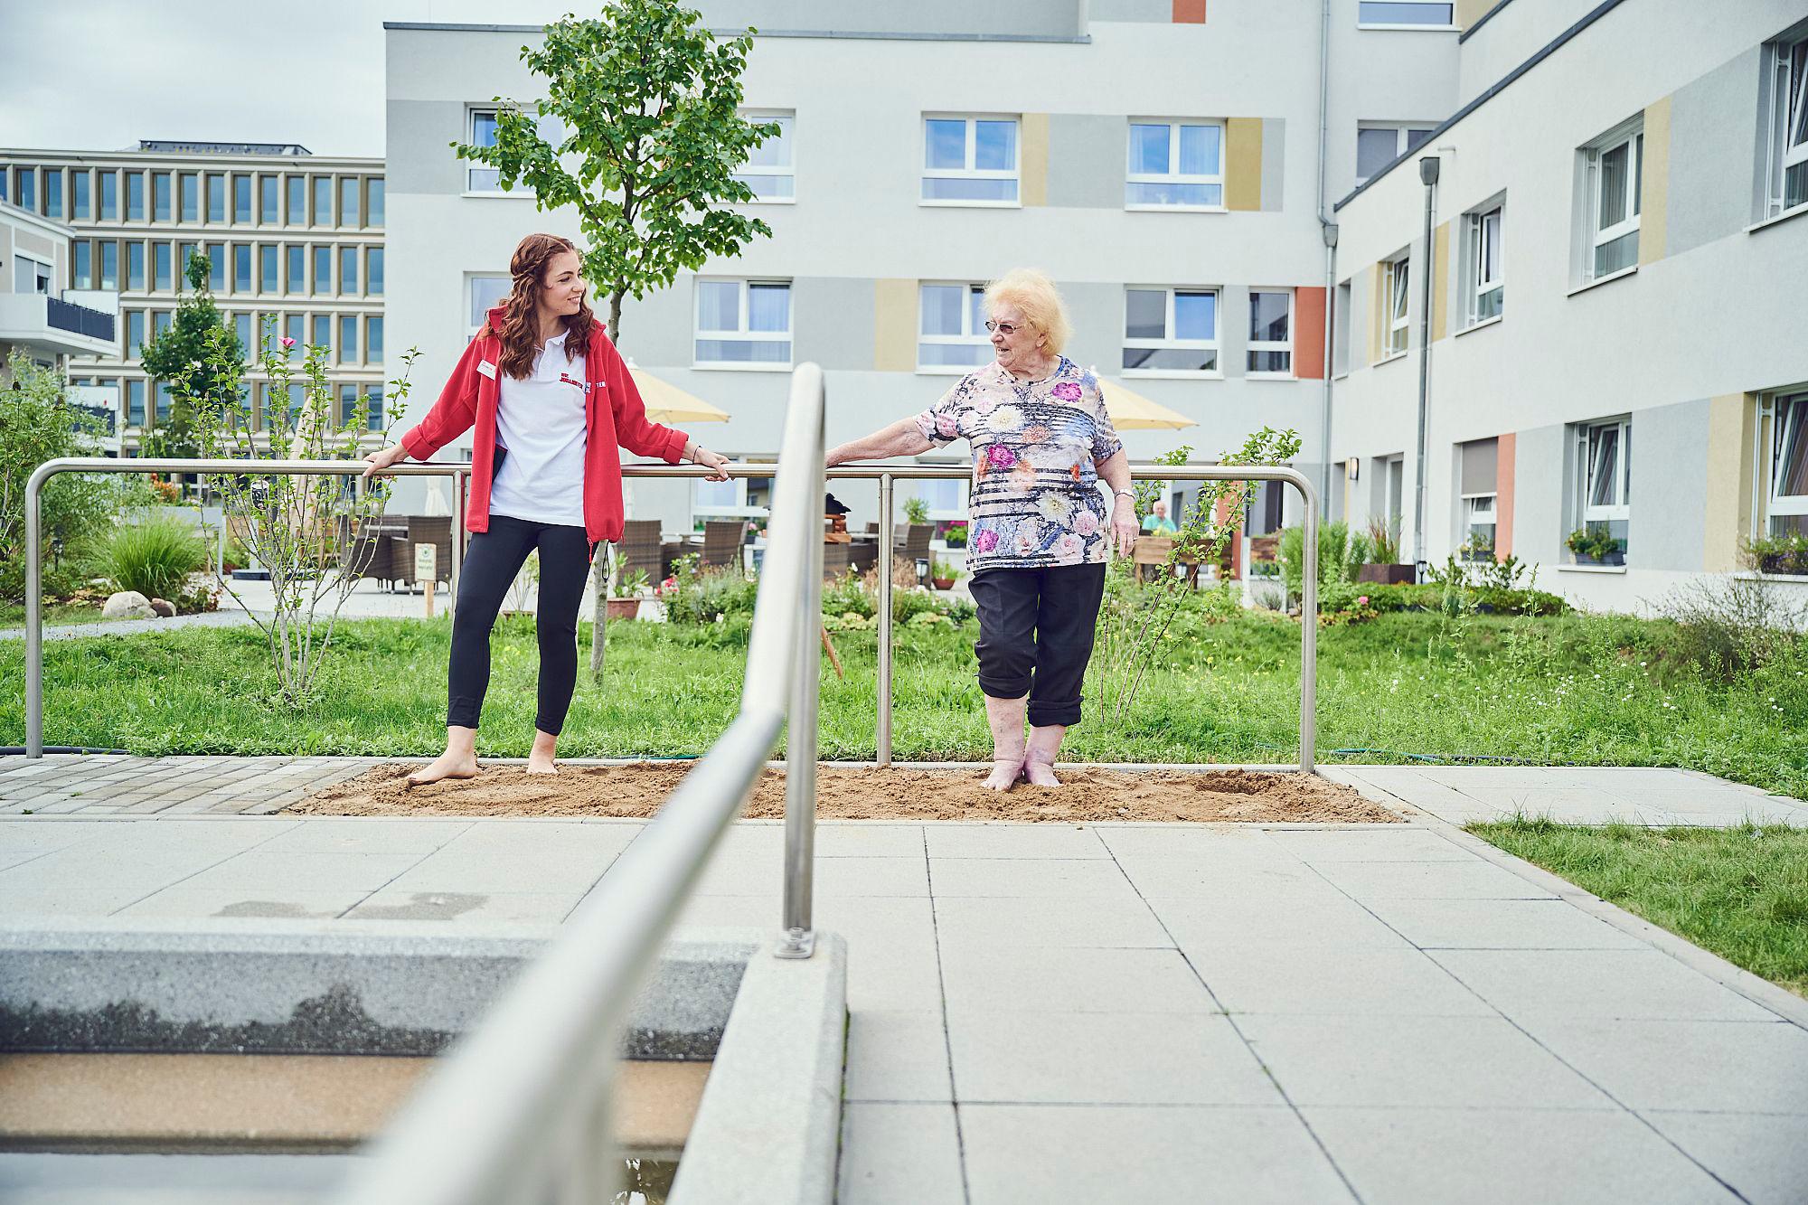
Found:
[[[1808,4],[1510,0],[1457,52],[1336,204],[1331,510],[1616,610],[1808,530]]]

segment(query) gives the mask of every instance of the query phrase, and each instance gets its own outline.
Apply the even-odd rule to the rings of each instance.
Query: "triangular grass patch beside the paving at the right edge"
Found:
[[[1808,829],[1470,825],[1728,963],[1808,995]]]

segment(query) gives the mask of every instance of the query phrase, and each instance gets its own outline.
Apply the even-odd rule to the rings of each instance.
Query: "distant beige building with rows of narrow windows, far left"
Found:
[[[116,346],[74,355],[69,373],[78,385],[118,393],[127,454],[168,414],[168,382],[146,376],[139,351],[168,329],[190,251],[208,257],[213,299],[246,346],[257,422],[284,402],[260,364],[269,331],[295,338],[287,355],[297,362],[306,346],[327,349],[344,413],[360,394],[381,398],[381,159],[282,143],[0,148],[0,201],[71,232],[67,257],[51,271],[56,289],[118,295]],[[374,427],[380,411],[372,403]]]

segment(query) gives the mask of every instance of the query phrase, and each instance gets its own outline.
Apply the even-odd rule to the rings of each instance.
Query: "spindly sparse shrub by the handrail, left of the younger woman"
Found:
[[[295,371],[293,338],[275,338],[275,318],[262,337],[262,365],[269,378],[262,429],[239,384],[242,351],[230,331],[208,331],[195,362],[175,373],[172,396],[192,407],[201,454],[219,460],[358,460],[367,432],[385,440],[403,414],[409,369],[416,351],[401,358],[401,376],[389,382],[381,420],[372,423],[371,396],[340,407],[327,382],[327,347],[300,349]],[[262,449],[259,445],[264,445]],[[219,490],[228,525],[246,550],[269,572],[271,612],[246,606],[230,579],[221,586],[244,608],[269,644],[277,691],[291,706],[306,700],[333,642],[338,613],[376,545],[365,536],[383,514],[391,483],[360,487],[356,478],[208,474]]]

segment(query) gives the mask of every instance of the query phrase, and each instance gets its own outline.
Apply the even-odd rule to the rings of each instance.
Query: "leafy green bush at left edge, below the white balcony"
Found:
[[[61,373],[40,369],[14,351],[11,385],[0,387],[0,597],[25,597],[25,483],[47,460],[99,454],[99,422],[71,405]],[[65,472],[43,483],[38,530],[45,586],[63,593],[83,554],[110,525],[123,501],[119,483],[92,472]]]

